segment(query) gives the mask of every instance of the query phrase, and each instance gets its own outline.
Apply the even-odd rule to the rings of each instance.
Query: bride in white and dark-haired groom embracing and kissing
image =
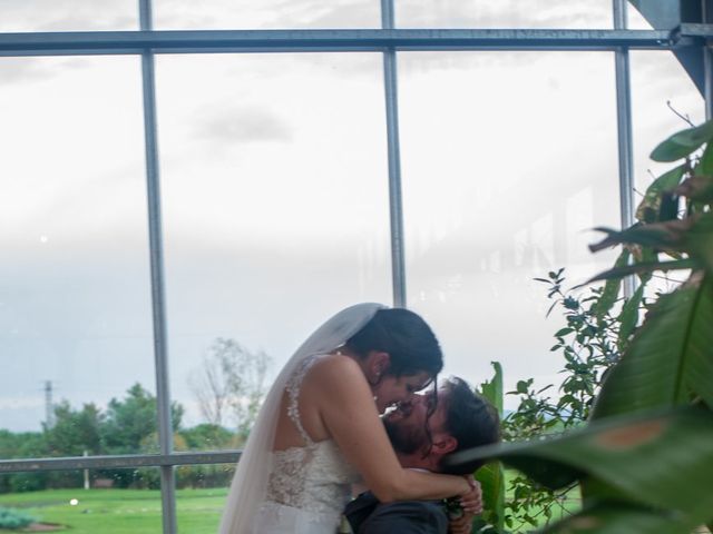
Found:
[[[441,461],[497,441],[497,415],[459,379],[417,394],[434,386],[442,365],[440,345],[417,314],[375,304],[338,313],[267,394],[219,532],[334,534],[358,483],[370,493],[346,510],[354,532],[446,532],[434,502],[449,497],[465,512],[451,531],[468,532],[481,507],[476,466],[451,474]],[[432,518],[409,522],[414,515]]]

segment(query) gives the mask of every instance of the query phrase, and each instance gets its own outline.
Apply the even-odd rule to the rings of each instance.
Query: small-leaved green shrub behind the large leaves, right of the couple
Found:
[[[605,287],[587,291],[565,291],[565,269],[550,271],[547,278],[536,278],[547,284],[547,296],[553,304],[547,313],[559,309],[565,325],[554,337],[553,352],[559,352],[564,366],[564,379],[556,398],[549,396],[551,384],[535,386],[534,380],[519,380],[515,390],[507,395],[519,397],[518,407],[505,417],[502,433],[506,442],[540,439],[543,436],[561,434],[568,428],[582,426],[588,418],[595,395],[609,367],[619,357],[619,333],[622,316],[628,314],[629,301],[624,300],[618,315],[612,315],[618,287],[608,283]],[[497,373],[499,366],[497,367]],[[484,385],[485,386],[485,385]],[[502,510],[502,524],[514,532],[549,524],[572,513],[573,502],[578,500],[578,488],[567,486],[550,490],[537,484],[526,474],[516,472],[509,477]],[[484,485],[486,497],[490,488]],[[489,504],[489,503],[488,503]],[[486,518],[490,521],[489,515]]]

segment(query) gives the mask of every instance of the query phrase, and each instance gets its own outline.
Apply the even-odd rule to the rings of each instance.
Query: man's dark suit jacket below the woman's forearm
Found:
[[[446,534],[448,516],[436,501],[381,504],[365,492],[346,505],[344,515],[354,534]]]

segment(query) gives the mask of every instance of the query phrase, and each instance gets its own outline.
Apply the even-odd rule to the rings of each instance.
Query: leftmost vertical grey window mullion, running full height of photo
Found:
[[[150,0],[139,0],[139,20],[141,31],[150,31],[153,29]],[[154,53],[148,49],[141,53],[141,85],[144,92],[144,136],[146,145],[146,188],[148,199],[158,442],[160,453],[163,455],[170,455],[173,453],[174,436],[168,379],[168,332],[166,326],[160,175],[158,166],[158,132],[156,127],[156,76]],[[162,465],[159,468],[163,531],[164,534],[176,534],[176,477],[174,466]]]

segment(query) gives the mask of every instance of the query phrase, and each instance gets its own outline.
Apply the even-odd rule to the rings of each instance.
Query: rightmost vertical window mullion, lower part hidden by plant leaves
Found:
[[[626,0],[613,0],[614,29],[626,30]],[[632,139],[632,87],[629,56],[626,47],[614,52],[616,69],[616,122],[619,161],[619,215],[622,227],[634,224],[634,157]],[[634,294],[633,276],[624,279],[624,296]]]

